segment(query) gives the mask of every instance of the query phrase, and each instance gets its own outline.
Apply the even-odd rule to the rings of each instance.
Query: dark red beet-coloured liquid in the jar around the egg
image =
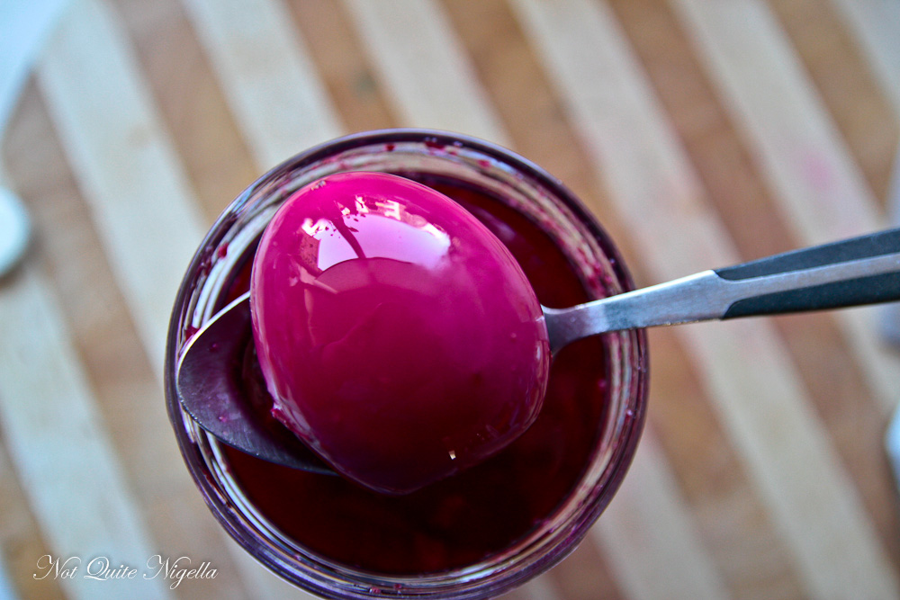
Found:
[[[500,237],[542,303],[563,307],[590,300],[566,257],[530,220],[485,193],[425,183]],[[238,277],[235,293],[247,290],[247,272]],[[329,560],[397,575],[464,567],[527,535],[581,479],[606,406],[604,353],[599,338],[563,349],[551,367],[544,407],[525,434],[491,459],[407,496],[385,496],[347,479],[286,469],[225,448],[229,467],[263,515]],[[264,390],[258,370],[251,369],[247,394],[271,405]]]

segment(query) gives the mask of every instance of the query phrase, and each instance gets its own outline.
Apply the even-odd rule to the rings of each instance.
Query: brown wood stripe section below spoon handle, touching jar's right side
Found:
[[[649,420],[691,516],[735,598],[801,598],[805,586],[742,449],[717,416],[704,372],[675,328],[650,332]]]

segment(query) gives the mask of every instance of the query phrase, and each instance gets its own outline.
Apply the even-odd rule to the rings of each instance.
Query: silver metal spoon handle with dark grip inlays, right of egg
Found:
[[[545,309],[555,350],[608,331],[900,300],[900,229]]]

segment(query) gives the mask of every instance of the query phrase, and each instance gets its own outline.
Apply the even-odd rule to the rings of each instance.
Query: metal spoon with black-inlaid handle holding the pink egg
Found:
[[[570,309],[544,309],[551,350],[611,331],[694,321],[836,309],[900,300],[900,228],[704,271]],[[293,434],[251,407],[240,391],[251,344],[249,293],[193,336],[176,390],[203,429],[266,461],[333,471]]]

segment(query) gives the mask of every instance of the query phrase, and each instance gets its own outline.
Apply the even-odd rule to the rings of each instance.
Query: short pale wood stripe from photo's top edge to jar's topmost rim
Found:
[[[405,127],[508,144],[446,14],[433,0],[347,0],[378,77]]]

